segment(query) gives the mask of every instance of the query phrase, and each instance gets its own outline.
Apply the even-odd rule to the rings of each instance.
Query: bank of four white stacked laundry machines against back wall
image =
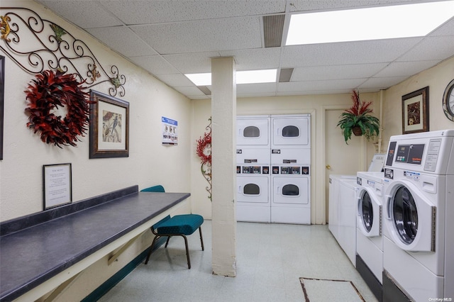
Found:
[[[309,114],[238,116],[238,221],[311,223],[310,133]]]

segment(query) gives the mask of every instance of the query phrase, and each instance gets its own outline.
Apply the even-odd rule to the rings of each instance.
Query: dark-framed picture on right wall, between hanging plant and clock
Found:
[[[428,86],[402,96],[402,133],[428,131]]]

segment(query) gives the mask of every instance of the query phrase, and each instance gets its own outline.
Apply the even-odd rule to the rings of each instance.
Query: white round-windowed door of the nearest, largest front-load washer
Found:
[[[433,252],[436,207],[418,190],[409,182],[393,181],[386,191],[384,224],[402,250]]]

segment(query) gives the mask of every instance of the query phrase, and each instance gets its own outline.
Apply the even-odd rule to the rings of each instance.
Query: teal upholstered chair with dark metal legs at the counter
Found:
[[[151,186],[150,188],[146,188],[141,190],[141,192],[165,192],[164,187],[161,185]],[[147,259],[145,260],[145,264],[148,264],[148,260],[150,259],[151,252],[153,251],[153,247],[155,246],[157,240],[160,237],[167,237],[167,241],[165,242],[165,247],[169,244],[170,237],[172,236],[182,236],[184,238],[184,245],[186,246],[186,258],[187,258],[187,267],[191,269],[191,259],[189,259],[189,247],[187,245],[187,237],[194,233],[197,229],[199,229],[200,234],[200,242],[201,242],[201,250],[205,250],[204,248],[204,239],[201,235],[201,224],[204,223],[204,218],[197,214],[184,214],[184,215],[176,215],[172,218],[166,216],[159,222],[155,223],[151,226],[151,232],[155,235],[153,242],[150,245],[150,250],[148,251]]]

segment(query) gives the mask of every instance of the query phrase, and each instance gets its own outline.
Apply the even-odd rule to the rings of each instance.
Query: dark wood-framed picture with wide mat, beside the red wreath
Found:
[[[129,103],[90,91],[89,158],[129,156]]]

